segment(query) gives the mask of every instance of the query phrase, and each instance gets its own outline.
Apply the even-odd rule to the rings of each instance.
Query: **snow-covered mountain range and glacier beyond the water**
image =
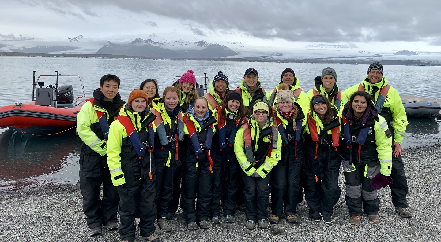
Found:
[[[38,37],[0,34],[0,51],[49,54],[112,54],[177,58],[240,58],[251,61],[297,61],[441,65],[441,52],[372,51],[351,43],[308,44],[303,48],[257,46],[239,41],[200,39],[176,33],[115,35],[111,37]]]

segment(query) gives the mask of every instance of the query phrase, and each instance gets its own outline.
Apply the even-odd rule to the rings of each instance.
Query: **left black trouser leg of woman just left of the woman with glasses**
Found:
[[[224,188],[224,160],[213,159],[213,183],[211,185],[210,216],[221,216],[221,198]],[[236,161],[236,163],[238,163]],[[239,163],[238,163],[239,164]]]

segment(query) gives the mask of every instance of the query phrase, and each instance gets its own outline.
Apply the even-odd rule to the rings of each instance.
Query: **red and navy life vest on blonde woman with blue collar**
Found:
[[[211,159],[210,153],[208,152],[208,150],[211,150],[211,141],[213,140],[213,133],[214,133],[214,124],[211,124],[208,128],[207,128],[207,136],[205,138],[205,143],[200,143],[199,142],[199,137],[198,137],[198,133],[196,132],[196,128],[194,127],[194,123],[193,121],[187,121],[187,119],[189,119],[190,117],[185,116],[183,118],[185,126],[187,126],[187,130],[188,133],[190,135],[190,140],[191,143],[193,144],[193,150],[194,150],[194,154],[196,154],[196,158],[198,158],[198,155],[202,154],[202,152],[204,150],[206,150],[207,152],[207,156],[208,156],[208,161],[210,163],[210,172],[213,173],[213,160]]]

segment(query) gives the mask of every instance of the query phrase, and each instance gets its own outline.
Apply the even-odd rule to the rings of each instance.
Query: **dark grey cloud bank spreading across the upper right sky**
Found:
[[[60,8],[59,0],[46,0]],[[259,38],[309,42],[426,41],[441,38],[441,1],[354,0],[66,0],[72,5],[113,5],[151,12],[202,29],[243,33]],[[66,11],[66,10],[65,10]],[[67,12],[69,14],[69,12]],[[437,41],[433,43],[438,43]]]

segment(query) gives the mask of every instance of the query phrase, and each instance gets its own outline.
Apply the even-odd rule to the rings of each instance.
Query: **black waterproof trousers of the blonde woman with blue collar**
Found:
[[[198,159],[198,161],[198,167],[196,167],[196,162],[183,162],[181,208],[185,224],[209,220],[210,216],[209,204],[213,174],[209,170],[207,158]]]

